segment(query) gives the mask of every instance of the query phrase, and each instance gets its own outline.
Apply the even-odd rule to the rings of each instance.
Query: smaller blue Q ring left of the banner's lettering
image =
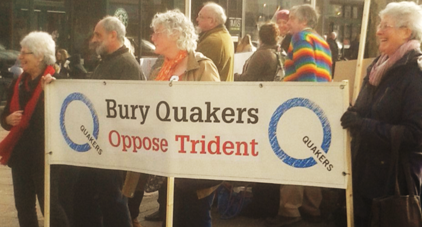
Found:
[[[61,111],[60,111],[60,129],[61,129],[62,135],[63,135],[66,143],[69,145],[69,147],[71,147],[72,149],[74,149],[74,150],[76,150],[78,152],[89,151],[91,149],[91,146],[90,146],[89,143],[76,144],[75,142],[72,141],[71,138],[69,138],[69,135],[67,134],[67,131],[66,131],[66,126],[64,124],[64,121],[65,121],[64,115],[66,113],[67,107],[73,101],[82,101],[90,109],[91,115],[92,115],[92,119],[93,119],[93,123],[94,123],[94,132],[92,133],[92,135],[94,136],[95,139],[98,139],[99,123],[98,123],[98,115],[97,115],[97,112],[95,111],[94,106],[93,106],[91,100],[89,100],[82,93],[72,93],[72,94],[68,95],[64,99],[64,102],[62,104],[62,108],[61,108]]]

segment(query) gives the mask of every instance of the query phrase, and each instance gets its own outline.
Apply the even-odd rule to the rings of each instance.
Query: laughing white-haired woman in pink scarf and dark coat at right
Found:
[[[409,168],[398,167],[400,192],[420,195],[422,182],[422,7],[390,3],[379,16],[381,55],[368,67],[356,103],[341,117],[352,135],[356,226],[369,226],[374,198],[394,195],[393,150],[409,163],[413,183],[409,188],[404,180]]]

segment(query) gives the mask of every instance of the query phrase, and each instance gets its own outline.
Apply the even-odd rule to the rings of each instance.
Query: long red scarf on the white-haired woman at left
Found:
[[[48,65],[47,68],[44,71],[43,76],[50,74],[53,75],[55,73],[55,70],[52,66]],[[21,83],[22,79],[25,79],[24,81],[24,88],[26,91],[29,91],[28,88],[28,80],[30,80],[30,77],[27,76],[23,78],[24,74],[22,74],[19,78],[17,78],[17,81],[13,88],[13,96],[10,100],[10,108],[9,113],[13,113],[15,111],[21,110],[21,106],[19,104],[19,84]],[[32,93],[32,97],[29,99],[28,103],[25,106],[24,113],[22,115],[21,122],[19,125],[12,127],[9,134],[6,136],[6,138],[3,139],[3,141],[0,143],[0,163],[3,165],[6,165],[9,161],[10,154],[13,151],[13,148],[15,147],[16,143],[21,138],[23,132],[28,128],[29,126],[29,120],[32,117],[33,111],[35,110],[35,107],[37,106],[38,99],[40,98],[40,95],[43,91],[41,82],[42,79],[38,82],[37,87],[35,88],[34,92]]]

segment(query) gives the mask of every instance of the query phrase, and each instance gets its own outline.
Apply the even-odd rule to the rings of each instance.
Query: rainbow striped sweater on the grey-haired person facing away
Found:
[[[293,35],[287,51],[284,81],[331,81],[331,52],[313,29]]]

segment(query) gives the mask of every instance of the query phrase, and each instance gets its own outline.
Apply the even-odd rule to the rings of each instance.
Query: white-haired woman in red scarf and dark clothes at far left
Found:
[[[43,77],[55,75],[56,44],[50,34],[34,31],[21,41],[23,73],[10,85],[1,125],[10,131],[0,143],[0,163],[12,169],[13,193],[21,227],[38,227],[36,197],[44,212]],[[56,176],[56,175],[55,175]],[[51,226],[69,226],[51,191]]]

